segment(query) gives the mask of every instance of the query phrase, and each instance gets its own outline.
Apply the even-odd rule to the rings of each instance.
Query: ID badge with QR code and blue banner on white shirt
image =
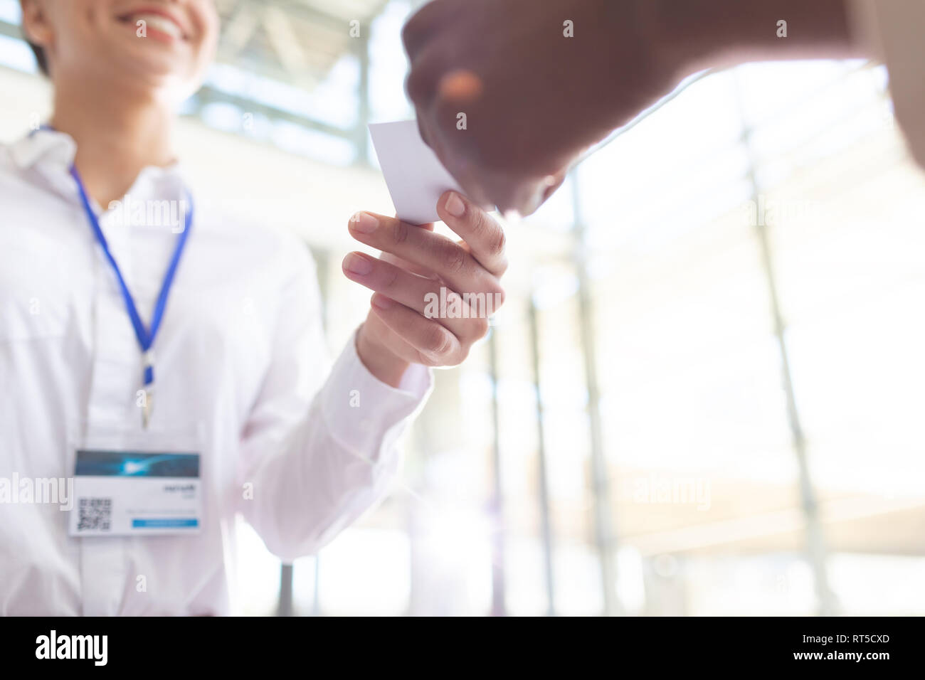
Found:
[[[201,437],[185,431],[99,430],[74,454],[68,534],[196,534],[203,521]]]

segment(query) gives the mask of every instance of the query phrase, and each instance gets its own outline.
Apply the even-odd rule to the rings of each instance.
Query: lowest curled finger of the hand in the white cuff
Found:
[[[468,353],[460,340],[435,319],[427,319],[379,293],[373,296],[371,302],[373,313],[419,353],[415,363],[456,365]]]

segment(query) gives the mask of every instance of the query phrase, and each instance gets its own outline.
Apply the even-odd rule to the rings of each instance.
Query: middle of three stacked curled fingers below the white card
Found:
[[[477,311],[470,310],[458,293],[448,289],[441,291],[438,280],[416,276],[367,254],[348,253],[344,258],[343,272],[352,281],[386,295],[416,314],[432,314],[439,324],[462,342],[477,340],[481,337],[477,334],[487,324],[487,319],[472,318]],[[449,310],[447,314],[440,308],[444,300],[445,309]]]

